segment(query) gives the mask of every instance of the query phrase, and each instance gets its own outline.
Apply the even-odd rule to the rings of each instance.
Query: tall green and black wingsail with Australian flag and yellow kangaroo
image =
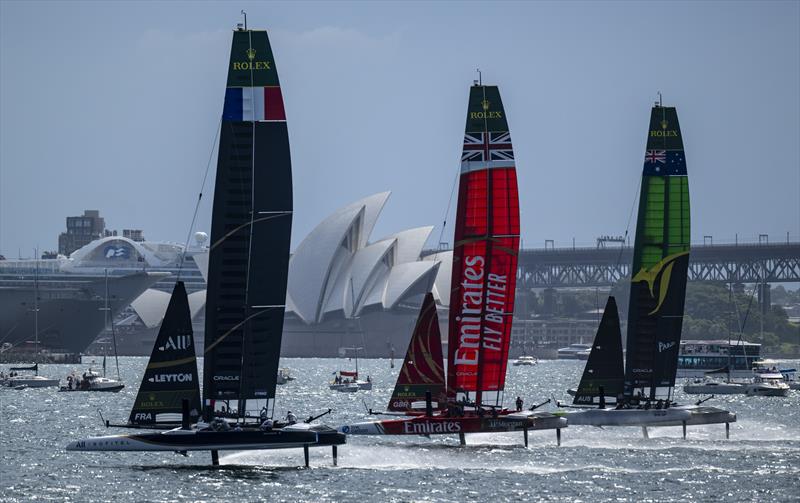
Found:
[[[689,182],[678,115],[650,115],[631,268],[625,396],[671,398],[689,268]],[[666,395],[663,393],[666,390]]]

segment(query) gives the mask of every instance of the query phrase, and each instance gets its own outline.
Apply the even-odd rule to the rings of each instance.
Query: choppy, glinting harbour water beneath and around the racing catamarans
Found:
[[[573,426],[555,433],[474,434],[466,447],[455,436],[350,437],[331,466],[329,449],[222,453],[67,452],[70,440],[111,434],[98,411],[124,421],[146,358],[120,359],[127,387],[117,394],[58,393],[55,389],[0,390],[0,501],[797,501],[800,500],[800,391],[788,398],[725,396],[710,404],[738,414],[725,439],[723,425],[681,429]],[[329,425],[366,417],[391,395],[399,370],[388,360],[359,360],[372,391],[336,393],[327,382],[352,363],[284,359],[297,379],[279,386],[276,415],[321,412]],[[787,362],[797,365],[799,362]],[[113,368],[113,364],[110,365]],[[580,361],[509,366],[506,403],[554,396],[566,400]],[[42,365],[63,379],[71,366]],[[695,401],[677,392],[681,402]],[[547,408],[548,406],[545,406]]]

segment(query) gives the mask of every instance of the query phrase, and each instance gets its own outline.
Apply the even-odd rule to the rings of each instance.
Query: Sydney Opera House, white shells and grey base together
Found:
[[[393,349],[402,356],[424,294],[446,305],[451,253],[421,257],[433,227],[370,239],[388,198],[383,192],[340,208],[292,254],[284,356],[335,356],[353,346],[369,357]]]

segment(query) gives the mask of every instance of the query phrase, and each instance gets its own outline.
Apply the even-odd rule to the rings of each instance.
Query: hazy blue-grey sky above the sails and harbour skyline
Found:
[[[678,108],[694,240],[800,237],[797,1],[2,0],[0,253],[56,249],[84,209],[185,239],[241,8],[286,101],[293,247],[384,190],[373,238],[436,224],[438,241],[475,68],[503,96],[526,247],[625,231],[657,91]]]

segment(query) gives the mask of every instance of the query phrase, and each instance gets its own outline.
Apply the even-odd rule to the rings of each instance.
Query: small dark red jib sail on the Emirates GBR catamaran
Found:
[[[433,294],[425,295],[422,308],[408,343],[406,358],[397,376],[388,410],[409,411],[414,403],[425,401],[430,392],[434,408],[444,406],[445,394],[444,357],[442,337],[439,332],[439,316]]]

